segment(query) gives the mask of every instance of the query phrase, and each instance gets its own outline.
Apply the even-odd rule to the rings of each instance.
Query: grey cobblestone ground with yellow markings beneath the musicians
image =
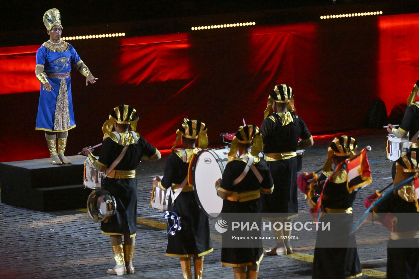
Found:
[[[354,203],[354,219],[364,211],[363,201],[375,189],[391,182],[392,163],[386,158],[386,134],[372,130],[350,131],[360,148],[368,152],[373,174],[372,184],[362,189]],[[316,137],[306,150],[303,171],[316,171],[326,159],[333,136]],[[167,157],[157,162],[142,162],[137,169],[138,205],[137,236],[129,278],[183,278],[177,258],[165,256],[166,234],[162,213],[150,208],[151,176],[163,174]],[[299,210],[308,212],[303,194],[299,193]],[[300,214],[298,218],[307,217]],[[205,278],[233,278],[231,268],[220,266],[220,235],[210,221],[214,252],[205,256]],[[102,235],[81,210],[37,212],[0,203],[0,278],[109,278],[106,269],[114,266],[109,237]],[[361,278],[385,278],[388,232],[381,225],[363,225],[357,234],[358,253],[364,275]],[[260,278],[311,278],[315,235],[300,235],[293,241],[294,254],[264,257]],[[273,243],[264,243],[269,247]]]

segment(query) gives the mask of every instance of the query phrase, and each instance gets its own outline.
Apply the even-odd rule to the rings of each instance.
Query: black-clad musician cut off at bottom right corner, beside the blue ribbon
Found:
[[[419,173],[419,153],[407,152],[396,161],[394,185]],[[381,195],[372,194],[365,199],[369,208]],[[374,220],[390,230],[387,245],[387,278],[419,278],[419,205],[415,196],[414,182],[403,185],[388,199],[372,209]],[[378,216],[377,216],[378,215]]]

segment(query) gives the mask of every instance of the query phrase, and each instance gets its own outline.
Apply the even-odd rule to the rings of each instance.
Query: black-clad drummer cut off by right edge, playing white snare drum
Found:
[[[407,99],[407,108],[403,116],[403,121],[398,129],[394,128],[393,125],[388,124],[387,131],[390,134],[394,134],[396,137],[406,137],[409,132],[409,141],[413,142],[410,147],[410,151],[419,152],[419,103],[415,102],[416,95],[419,91],[419,80],[413,86],[413,90]]]

